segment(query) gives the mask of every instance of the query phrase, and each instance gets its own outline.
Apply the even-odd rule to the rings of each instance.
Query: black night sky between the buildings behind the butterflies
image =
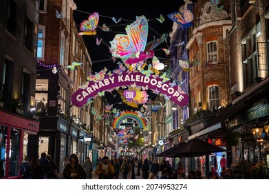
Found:
[[[109,41],[112,41],[116,34],[126,34],[125,28],[128,24],[136,21],[136,16],[144,15],[149,19],[149,33],[147,42],[153,40],[153,37],[160,37],[163,33],[171,32],[173,21],[171,21],[167,14],[177,12],[180,5],[184,4],[183,0],[169,1],[166,3],[152,3],[154,1],[86,1],[86,0],[74,0],[77,6],[77,10],[74,11],[74,19],[77,23],[78,31],[80,31],[80,23],[83,20],[88,19],[89,14],[98,12],[99,23],[97,28],[97,34],[94,36],[83,36],[85,44],[87,46],[89,55],[93,62],[92,70],[99,72],[106,67],[108,70],[114,70],[118,65],[117,62],[113,63],[111,59],[111,53],[109,52]],[[127,6],[129,4],[129,6]],[[156,18],[160,17],[160,14],[164,16],[164,23],[160,23]],[[112,17],[116,19],[122,18],[119,23],[114,23]],[[103,32],[103,23],[111,29],[109,32]],[[96,37],[103,39],[100,45],[96,45]],[[158,59],[166,58],[164,51],[161,48],[168,48],[170,38],[167,37],[167,43],[162,43],[155,48],[155,56]]]

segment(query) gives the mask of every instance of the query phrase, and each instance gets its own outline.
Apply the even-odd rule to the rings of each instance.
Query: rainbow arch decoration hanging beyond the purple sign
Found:
[[[127,118],[134,119],[135,121],[138,121],[138,125],[140,126],[140,128],[146,128],[146,121],[144,121],[144,119],[140,118],[138,116],[138,114],[136,112],[133,112],[133,111],[125,111],[124,113],[120,114],[120,116],[118,116],[114,120],[112,127],[119,128],[120,123],[122,123],[122,121],[127,119]]]

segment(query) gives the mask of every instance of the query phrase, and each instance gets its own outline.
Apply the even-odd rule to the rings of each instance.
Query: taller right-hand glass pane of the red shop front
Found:
[[[19,150],[21,131],[15,128],[10,132],[10,167],[8,176],[19,176]]]

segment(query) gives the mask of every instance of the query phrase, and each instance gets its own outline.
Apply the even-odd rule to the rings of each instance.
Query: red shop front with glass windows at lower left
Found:
[[[27,152],[28,135],[37,132],[39,121],[0,110],[0,179],[20,178],[19,165]]]

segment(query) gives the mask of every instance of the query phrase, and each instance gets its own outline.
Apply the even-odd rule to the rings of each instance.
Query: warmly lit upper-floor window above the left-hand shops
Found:
[[[49,88],[48,79],[36,79],[35,106],[39,112],[47,110],[47,92]]]

